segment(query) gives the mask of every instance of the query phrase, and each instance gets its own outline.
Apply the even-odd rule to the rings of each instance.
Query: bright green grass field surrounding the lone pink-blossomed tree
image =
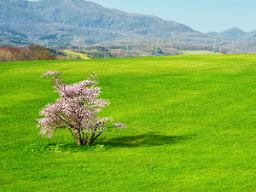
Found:
[[[127,129],[78,146],[38,132],[58,97],[40,75],[98,74]],[[0,63],[0,191],[255,191],[256,55]]]

